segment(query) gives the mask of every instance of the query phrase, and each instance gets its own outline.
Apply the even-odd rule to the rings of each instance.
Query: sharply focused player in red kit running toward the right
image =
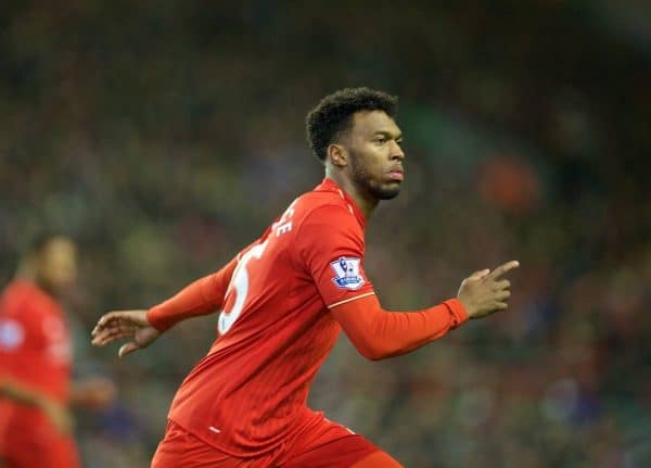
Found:
[[[183,381],[155,468],[397,468],[388,454],[308,408],[309,388],[343,329],[378,361],[417,350],[507,308],[510,282],[494,271],[467,278],[458,296],[413,312],[382,308],[363,270],[365,230],[404,180],[397,99],[343,89],[307,116],[326,178],[215,275],[151,311],[104,315],[93,343],[131,338],[123,356],[176,322],[224,309],[218,338]]]

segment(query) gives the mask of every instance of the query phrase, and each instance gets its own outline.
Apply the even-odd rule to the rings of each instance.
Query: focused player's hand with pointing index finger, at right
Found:
[[[493,271],[489,269],[475,271],[463,280],[457,299],[465,307],[469,318],[486,317],[508,307],[511,282],[500,278],[519,266],[520,263],[516,261],[508,262]]]

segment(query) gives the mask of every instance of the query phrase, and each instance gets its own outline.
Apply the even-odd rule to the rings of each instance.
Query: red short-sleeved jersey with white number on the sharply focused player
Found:
[[[296,199],[238,255],[218,339],[177,392],[169,418],[235,456],[280,445],[323,416],[309,387],[341,327],[329,307],[373,294],[366,219],[330,179]]]

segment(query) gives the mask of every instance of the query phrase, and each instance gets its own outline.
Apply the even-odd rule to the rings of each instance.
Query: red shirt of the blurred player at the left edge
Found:
[[[0,379],[21,382],[67,404],[72,345],[59,303],[26,280],[15,280],[0,295]],[[35,407],[0,399],[0,439],[34,435],[47,425]]]

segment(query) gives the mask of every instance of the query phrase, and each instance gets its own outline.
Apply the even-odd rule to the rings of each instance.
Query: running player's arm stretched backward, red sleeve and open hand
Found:
[[[192,282],[174,298],[150,309],[104,314],[92,330],[92,344],[103,346],[116,340],[129,339],[118,351],[119,357],[123,357],[149,346],[165,330],[181,320],[214,313],[224,304],[238,257],[219,271]]]

